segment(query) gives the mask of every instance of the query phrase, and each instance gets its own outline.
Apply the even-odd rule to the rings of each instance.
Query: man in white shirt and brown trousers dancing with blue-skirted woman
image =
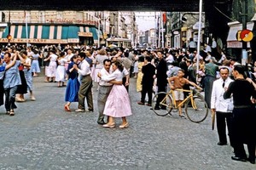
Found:
[[[79,81],[80,81],[80,88],[79,88],[79,109],[76,112],[84,112],[85,105],[84,99],[86,98],[88,111],[93,111],[93,99],[92,99],[92,79],[90,77],[90,65],[85,60],[86,54],[79,53],[79,60],[80,68],[77,65],[73,65],[73,68],[79,72]]]

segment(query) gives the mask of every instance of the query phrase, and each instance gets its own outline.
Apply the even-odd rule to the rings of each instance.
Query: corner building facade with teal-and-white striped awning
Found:
[[[0,11],[0,42],[106,45],[127,38],[125,16],[106,11]],[[135,23],[135,20],[132,20]],[[135,24],[131,24],[134,26]],[[4,25],[3,25],[4,24]],[[11,38],[7,38],[7,37]]]

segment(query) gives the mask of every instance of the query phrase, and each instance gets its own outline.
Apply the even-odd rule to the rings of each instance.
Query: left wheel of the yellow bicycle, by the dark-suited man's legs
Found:
[[[162,99],[157,105],[159,96],[162,96]],[[172,111],[172,98],[165,92],[160,92],[154,95],[152,99],[152,109],[154,113],[158,116],[166,116],[170,111]]]

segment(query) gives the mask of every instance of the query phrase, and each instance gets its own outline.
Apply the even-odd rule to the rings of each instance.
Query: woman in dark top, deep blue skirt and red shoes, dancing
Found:
[[[78,71],[73,69],[73,65],[78,64],[78,57],[77,55],[74,55],[71,58],[71,63],[67,67],[67,75],[68,75],[68,81],[67,81],[67,88],[66,88],[66,94],[65,94],[65,101],[67,101],[67,104],[65,105],[65,111],[71,111],[69,106],[72,102],[78,102],[79,101],[79,79],[78,79]]]

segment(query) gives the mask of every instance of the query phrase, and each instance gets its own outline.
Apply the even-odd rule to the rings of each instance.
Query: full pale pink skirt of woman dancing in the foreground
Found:
[[[103,114],[113,117],[132,115],[129,94],[127,93],[125,86],[113,85],[113,88],[108,95]]]

